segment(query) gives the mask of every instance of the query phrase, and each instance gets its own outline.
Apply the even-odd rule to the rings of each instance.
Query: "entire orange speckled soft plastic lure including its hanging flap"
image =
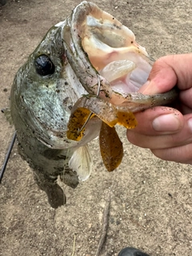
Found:
[[[118,124],[125,126],[127,129],[134,128],[137,125],[134,114],[126,112],[109,102],[104,102],[100,98],[87,100],[87,98],[82,97],[78,100],[76,106],[78,107],[74,106],[73,114],[70,115],[70,121],[68,122],[67,138],[80,141],[86,130],[86,122],[97,115],[102,120],[99,134],[102,161],[108,171],[116,169],[122,162],[123,147],[114,126]]]

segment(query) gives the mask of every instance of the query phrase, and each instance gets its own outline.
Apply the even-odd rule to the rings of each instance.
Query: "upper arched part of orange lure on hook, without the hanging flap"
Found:
[[[110,127],[118,124],[126,127],[126,129],[133,129],[138,123],[134,114],[127,111],[124,106],[114,106],[110,102],[105,102],[97,97],[82,97],[76,102],[70,115],[66,132],[67,138],[75,141],[81,140],[83,131],[86,129],[85,127],[82,129],[82,127],[87,122],[91,112],[93,113],[91,117],[97,115],[102,122]]]

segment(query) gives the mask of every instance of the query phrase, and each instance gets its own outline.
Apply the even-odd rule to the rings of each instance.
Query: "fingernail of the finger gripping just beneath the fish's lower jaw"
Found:
[[[156,131],[173,132],[179,130],[181,123],[175,114],[162,114],[154,119],[152,126]]]

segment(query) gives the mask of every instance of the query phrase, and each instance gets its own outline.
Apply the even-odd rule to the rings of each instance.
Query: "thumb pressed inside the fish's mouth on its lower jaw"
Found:
[[[169,55],[154,62],[148,81],[138,90],[142,94],[162,94],[176,84],[180,90],[192,86],[192,54]]]

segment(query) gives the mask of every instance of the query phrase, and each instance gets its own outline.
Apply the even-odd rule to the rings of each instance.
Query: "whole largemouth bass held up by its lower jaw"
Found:
[[[135,42],[131,30],[94,3],[82,2],[65,21],[48,31],[18,70],[10,97],[18,150],[34,170],[34,178],[46,192],[50,206],[57,208],[66,202],[57,184],[58,176],[73,188],[90,176],[88,142],[100,134],[100,144],[109,145],[105,140],[113,138],[113,143],[121,147],[113,127],[125,124],[121,108],[124,114],[134,113],[175,98],[174,90],[153,96],[136,92],[146,82],[151,65],[149,55]],[[82,96],[85,94],[86,101]],[[73,133],[70,116],[80,106],[83,111],[72,128],[77,126],[76,132],[82,131],[82,137],[74,140],[66,133]],[[106,122],[106,106],[112,107],[113,114],[120,112],[113,125]],[[81,129],[90,112],[94,116]],[[108,149],[110,146],[102,153],[107,154]],[[121,162],[122,148],[119,152],[113,155],[118,163],[112,169]],[[107,162],[110,156],[104,158]]]

